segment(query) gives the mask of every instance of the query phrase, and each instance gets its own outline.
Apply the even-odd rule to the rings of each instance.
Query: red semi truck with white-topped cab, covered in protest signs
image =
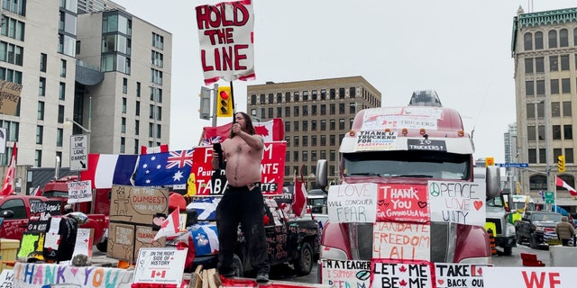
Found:
[[[341,193],[343,197],[347,197],[338,187],[353,187],[355,184],[379,187],[378,190],[375,189],[378,193],[389,195],[394,191],[410,194],[427,190],[427,184],[431,181],[471,185],[473,151],[472,137],[464,132],[460,114],[453,109],[444,108],[435,91],[416,92],[408,106],[370,108],[358,112],[352,130],[344,135],[339,148],[339,182],[330,187],[328,195],[329,216],[332,214],[331,209],[340,210],[338,212],[341,214],[336,215],[347,220],[328,220],[325,224],[321,240],[321,260],[371,260],[375,259],[379,245],[382,247],[395,241],[400,243],[406,238],[416,239],[415,230],[405,235],[398,232],[396,238],[390,235],[387,238],[375,238],[374,227],[384,223],[389,227],[404,225],[406,228],[411,227],[408,224],[430,225],[426,227],[427,233],[423,234],[426,237],[421,237],[430,245],[430,251],[422,253],[428,257],[425,259],[418,258],[418,255],[416,257],[415,250],[408,255],[400,255],[400,250],[398,253],[393,251],[386,256],[380,256],[381,258],[396,258],[402,261],[404,257],[408,257],[433,263],[490,263],[490,239],[486,230],[482,225],[460,223],[463,219],[458,217],[465,217],[464,213],[460,215],[453,211],[448,217],[451,219],[447,221],[426,220],[426,217],[430,218],[426,213],[415,216],[415,204],[431,206],[428,192],[425,199],[421,197],[418,202],[413,202],[413,210],[408,208],[411,202],[404,202],[405,209],[401,207],[392,211],[391,214],[397,213],[397,216],[387,214],[389,210],[377,211],[376,218],[385,220],[376,220],[374,223],[361,221],[360,219],[366,217],[366,211],[354,210],[346,205],[346,198],[341,207],[335,207],[339,205],[332,201],[335,199],[332,196],[335,195],[331,193]],[[317,163],[316,182],[321,187],[327,185],[326,166],[325,160]],[[482,198],[500,192],[499,169],[496,166],[487,168],[486,184],[487,191],[482,192]],[[350,200],[349,202],[358,202],[358,199]],[[382,204],[381,200],[376,202],[376,205]],[[393,204],[395,203],[391,202],[391,206]],[[481,221],[484,222],[484,219]],[[380,244],[375,243],[379,240]],[[322,265],[318,270],[318,279],[323,283]]]

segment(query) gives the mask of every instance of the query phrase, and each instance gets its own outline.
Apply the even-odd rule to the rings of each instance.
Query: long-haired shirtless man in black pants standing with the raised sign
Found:
[[[218,229],[218,270],[225,277],[234,276],[234,243],[241,223],[248,257],[256,270],[257,282],[269,281],[269,257],[264,234],[264,200],[261,193],[261,159],[264,140],[255,134],[251,118],[234,113],[231,134],[222,143],[228,181],[223,198],[216,207]],[[218,155],[213,154],[213,169],[218,169]]]

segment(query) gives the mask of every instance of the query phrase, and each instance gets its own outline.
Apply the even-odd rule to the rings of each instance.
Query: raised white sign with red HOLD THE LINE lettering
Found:
[[[196,10],[205,84],[255,79],[252,1],[203,4]]]

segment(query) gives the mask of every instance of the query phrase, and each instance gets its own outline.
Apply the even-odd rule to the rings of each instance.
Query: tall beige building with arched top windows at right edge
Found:
[[[541,203],[539,191],[556,191],[556,203],[575,211],[577,201],[563,187],[555,187],[555,176],[575,187],[577,8],[524,13],[519,7],[511,44],[518,161],[529,164],[521,169],[521,191]],[[566,162],[561,173],[560,155]]]

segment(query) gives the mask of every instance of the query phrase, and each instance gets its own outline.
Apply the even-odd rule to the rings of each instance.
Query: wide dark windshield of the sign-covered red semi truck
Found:
[[[436,151],[343,153],[343,175],[465,180],[471,178],[471,160],[471,155]]]

